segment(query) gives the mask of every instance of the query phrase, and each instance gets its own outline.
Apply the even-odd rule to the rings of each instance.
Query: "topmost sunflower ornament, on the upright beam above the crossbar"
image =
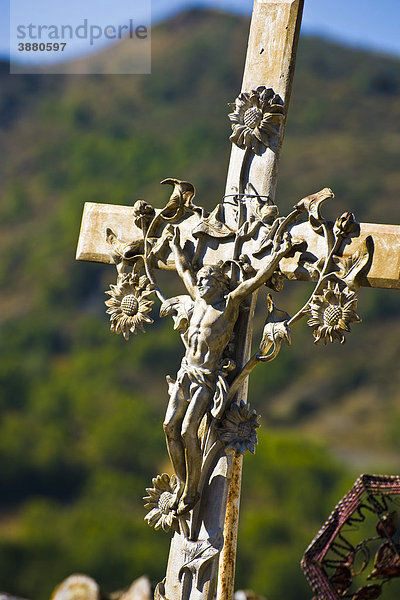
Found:
[[[235,111],[229,115],[231,142],[239,148],[252,148],[256,154],[271,145],[284,117],[283,102],[273,89],[261,85],[251,92],[242,92],[229,106]]]

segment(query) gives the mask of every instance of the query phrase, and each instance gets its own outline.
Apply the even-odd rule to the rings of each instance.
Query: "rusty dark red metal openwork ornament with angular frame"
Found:
[[[301,561],[315,600],[382,597],[385,584],[400,578],[399,513],[399,476],[357,479]]]

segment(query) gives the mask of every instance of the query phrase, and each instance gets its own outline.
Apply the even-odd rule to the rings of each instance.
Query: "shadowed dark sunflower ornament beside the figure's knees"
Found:
[[[259,415],[249,404],[240,401],[233,403],[225,414],[219,428],[219,437],[225,442],[225,450],[234,452],[236,456],[247,450],[254,454],[257,444],[257,427],[260,427]]]

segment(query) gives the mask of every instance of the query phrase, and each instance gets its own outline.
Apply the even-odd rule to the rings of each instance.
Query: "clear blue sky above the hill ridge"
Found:
[[[15,19],[27,11],[46,22],[50,5],[61,12],[68,7],[77,19],[117,24],[132,14],[140,21],[141,9],[150,2],[152,24],[192,6],[238,14],[251,14],[252,8],[252,0],[0,0],[0,56],[9,54],[10,6],[15,29]],[[91,3],[92,11],[88,9]],[[400,0],[305,0],[302,31],[400,56]]]

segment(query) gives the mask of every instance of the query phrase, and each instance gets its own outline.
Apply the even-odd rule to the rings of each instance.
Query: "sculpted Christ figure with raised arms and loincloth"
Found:
[[[217,394],[223,354],[231,340],[240,304],[272,277],[291,244],[288,233],[275,240],[265,266],[230,291],[229,279],[219,265],[205,266],[195,273],[181,248],[178,227],[171,237],[177,272],[193,301],[185,335],[186,353],[176,381],[170,385],[164,421],[167,448],[179,482],[174,508],[182,515],[199,499],[202,451],[198,431]]]

